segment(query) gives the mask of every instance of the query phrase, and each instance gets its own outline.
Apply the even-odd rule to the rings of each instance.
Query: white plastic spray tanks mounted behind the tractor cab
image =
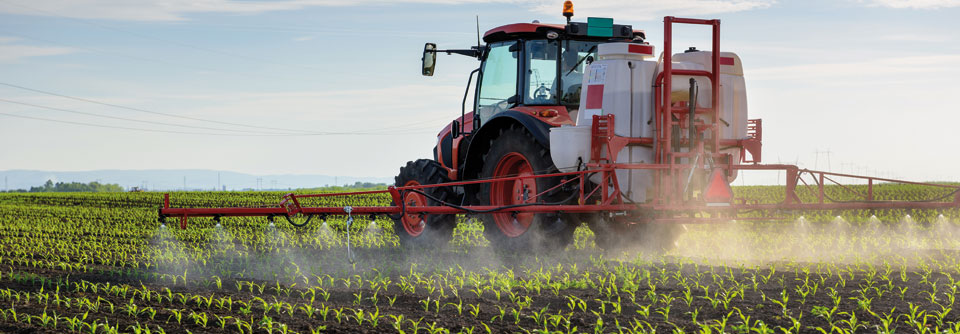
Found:
[[[561,171],[572,171],[578,164],[590,161],[590,130],[593,115],[613,114],[614,133],[624,137],[654,137],[653,80],[662,70],[652,61],[653,46],[636,43],[606,43],[597,48],[597,60],[586,65],[581,91],[580,109],[576,125],[553,128],[550,131],[550,152],[554,165]],[[710,70],[711,53],[694,51],[673,56],[673,68]],[[746,89],[740,58],[731,52],[720,54],[720,136],[721,139],[747,137]],[[697,104],[710,107],[711,85],[705,78],[695,78],[700,87]],[[689,77],[674,76],[672,100],[689,100]],[[712,136],[712,134],[707,134]],[[686,148],[681,148],[686,150]],[[721,149],[740,162],[740,148]],[[652,147],[630,146],[617,156],[618,163],[653,163]],[[599,177],[592,180],[599,182]],[[736,174],[730,175],[733,182]],[[646,201],[646,191],[652,186],[648,170],[617,171],[620,190],[630,200]]]

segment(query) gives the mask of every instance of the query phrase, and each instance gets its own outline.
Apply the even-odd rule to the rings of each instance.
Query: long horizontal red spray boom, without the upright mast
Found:
[[[689,169],[689,166],[684,165],[658,165],[658,164],[616,164],[617,169],[649,169],[654,170],[657,173],[663,174],[670,172],[672,170],[682,170]],[[736,170],[767,170],[775,171],[782,170],[786,172],[787,175],[787,185],[784,187],[784,200],[780,203],[747,203],[748,199],[738,199],[734,200],[728,205],[723,206],[710,206],[704,201],[687,201],[685,203],[666,203],[665,201],[650,201],[648,203],[641,204],[629,204],[623,201],[623,198],[620,194],[620,187],[617,182],[617,177],[615,171],[617,169],[610,167],[603,167],[598,169],[590,169],[585,171],[578,172],[569,172],[569,173],[555,173],[555,174],[543,174],[543,175],[532,175],[532,176],[515,176],[508,178],[498,178],[490,180],[481,180],[481,181],[464,181],[464,182],[451,182],[444,184],[435,184],[435,185],[422,185],[422,186],[411,186],[411,187],[389,187],[386,190],[375,190],[375,191],[363,191],[363,192],[349,192],[349,193],[328,193],[328,194],[308,194],[308,195],[296,195],[296,194],[287,194],[284,196],[283,202],[277,207],[273,208],[173,208],[170,207],[170,197],[169,194],[164,195],[164,206],[160,209],[161,218],[179,218],[180,227],[186,228],[187,219],[190,217],[244,217],[244,216],[292,216],[296,214],[302,215],[396,215],[396,214],[466,214],[470,213],[470,210],[474,211],[486,211],[488,213],[503,213],[503,212],[529,212],[529,213],[587,213],[587,212],[602,212],[602,213],[617,213],[618,216],[623,217],[622,219],[625,223],[635,223],[635,222],[658,222],[658,223],[710,223],[710,222],[722,222],[730,221],[733,219],[737,220],[769,220],[771,217],[761,217],[761,218],[744,218],[738,217],[739,212],[743,211],[756,211],[756,210],[767,210],[767,211],[777,211],[777,210],[863,210],[863,209],[950,209],[950,208],[960,208],[960,187],[952,185],[943,185],[943,184],[933,184],[933,183],[919,183],[919,182],[909,182],[909,181],[899,181],[886,178],[876,178],[876,177],[867,177],[867,176],[857,176],[850,174],[839,174],[839,173],[830,173],[823,171],[814,171],[807,169],[800,169],[794,165],[734,165],[733,169]],[[591,174],[599,174],[601,176],[601,184],[595,187],[592,191],[584,191],[587,187],[587,182],[585,180],[589,178]],[[814,181],[813,185],[810,185],[806,182],[804,176],[811,177]],[[537,197],[540,194],[532,196],[530,198],[531,205],[522,206],[522,207],[511,207],[511,208],[498,208],[495,206],[484,206],[484,205],[469,205],[469,206],[459,206],[457,203],[448,203],[453,204],[453,206],[448,205],[437,205],[437,206],[400,206],[401,199],[403,194],[408,191],[422,190],[430,187],[440,187],[440,186],[462,186],[468,184],[479,184],[479,183],[493,183],[493,182],[504,182],[507,180],[516,180],[523,178],[540,178],[540,177],[563,177],[564,183],[569,182],[578,182],[581,185],[581,191],[578,194],[577,203],[583,204],[568,204],[568,205],[540,205],[537,204]],[[856,189],[844,186],[836,182],[835,178],[837,177],[847,177],[847,178],[856,178],[862,179],[867,182],[868,188],[865,193],[858,191]],[[825,195],[825,187],[827,182],[836,184],[837,186],[845,189],[846,191],[856,194],[859,196],[857,200],[853,201],[830,201]],[[953,191],[948,193],[942,199],[953,197],[953,201],[875,201],[873,185],[876,182],[888,182],[888,183],[902,183],[902,184],[913,184],[929,187],[938,187],[943,189],[952,189]],[[802,186],[800,185],[802,184]],[[800,196],[797,193],[797,188],[802,187],[801,189],[807,189],[815,194],[817,194],[817,200],[813,202],[804,202],[801,200]],[[602,189],[608,189],[608,191],[602,191]],[[299,204],[299,199],[303,198],[314,198],[314,197],[335,197],[335,196],[358,196],[358,195],[371,195],[371,194],[382,194],[389,193],[393,198],[393,204],[391,206],[361,206],[361,207],[350,207],[349,210],[347,207],[301,207]],[[542,194],[542,193],[541,193]],[[591,203],[592,202],[592,203]],[[456,207],[455,207],[456,206]],[[350,211],[350,212],[348,212]]]

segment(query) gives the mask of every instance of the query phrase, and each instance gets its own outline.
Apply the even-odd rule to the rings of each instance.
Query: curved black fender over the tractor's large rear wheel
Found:
[[[501,129],[510,126],[521,126],[533,136],[534,139],[543,147],[550,147],[550,128],[551,125],[516,110],[507,110],[497,114],[487,120],[480,126],[480,129],[473,135],[470,146],[467,149],[464,158],[463,169],[460,173],[461,179],[476,179],[480,174],[482,167],[483,154],[490,149],[490,140],[500,134]]]

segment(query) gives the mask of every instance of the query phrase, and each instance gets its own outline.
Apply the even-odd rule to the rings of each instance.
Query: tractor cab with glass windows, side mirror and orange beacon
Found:
[[[569,22],[572,9],[564,15],[567,24],[534,21],[496,27],[484,34],[486,45],[469,50],[438,50],[432,43],[426,45],[424,75],[433,75],[438,52],[473,56],[481,61],[475,71],[479,83],[474,91],[475,113],[473,119],[465,122],[473,126],[461,129],[464,131],[460,133],[470,133],[494,116],[518,107],[554,110],[543,115],[535,110],[533,113],[552,126],[575,120],[583,70],[596,57],[597,46],[608,42],[645,43],[643,31],[613,24],[613,19],[591,17],[587,22]],[[557,114],[562,114],[561,119],[556,118]]]

